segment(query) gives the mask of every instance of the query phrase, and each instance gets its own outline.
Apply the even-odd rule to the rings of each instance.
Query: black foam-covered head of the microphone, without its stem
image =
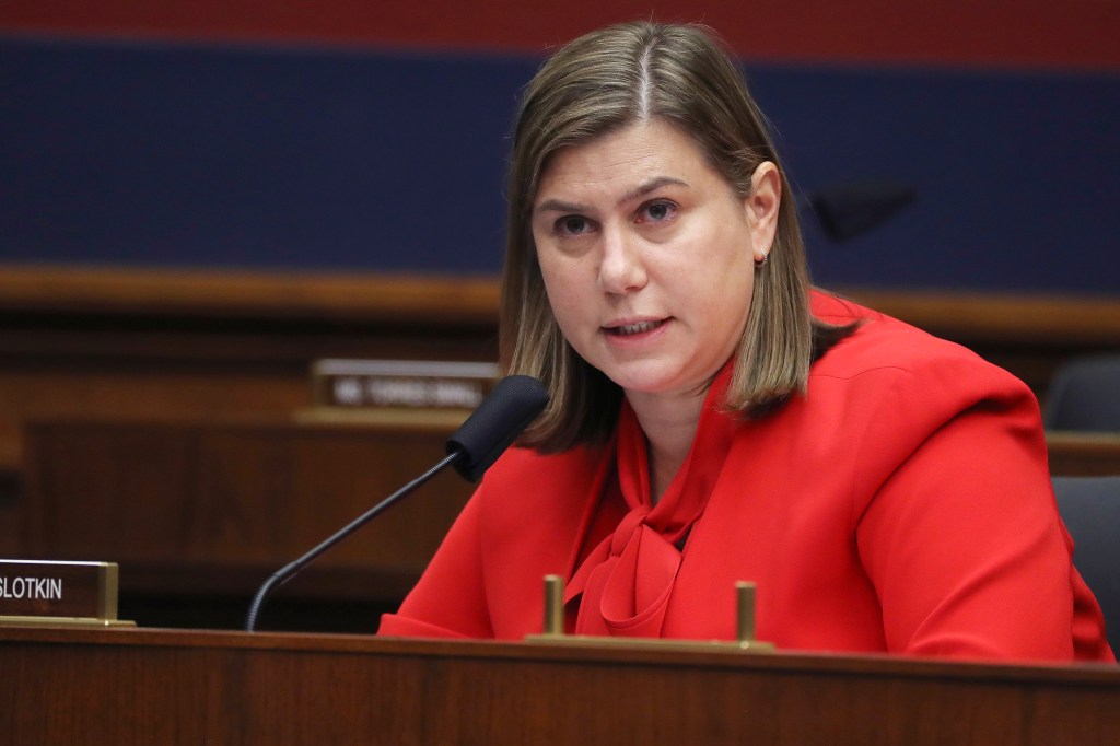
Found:
[[[456,470],[472,482],[497,460],[549,403],[544,384],[529,375],[508,375],[447,439],[447,453],[461,454]]]

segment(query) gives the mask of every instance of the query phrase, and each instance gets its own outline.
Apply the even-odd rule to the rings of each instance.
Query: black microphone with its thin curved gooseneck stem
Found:
[[[548,390],[534,377],[510,375],[498,381],[494,391],[447,439],[447,457],[444,460],[351,521],[307,553],[273,572],[253,597],[249,616],[245,618],[245,632],[255,630],[256,617],[272,590],[291,580],[311,560],[357,531],[390,505],[411,494],[445,467],[454,464],[456,470],[465,478],[470,482],[478,481],[548,403]]]

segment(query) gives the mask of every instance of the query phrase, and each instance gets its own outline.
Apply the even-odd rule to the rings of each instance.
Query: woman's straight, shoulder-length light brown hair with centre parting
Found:
[[[610,26],[571,41],[541,67],[525,88],[514,131],[500,317],[503,370],[536,376],[552,394],[522,438],[539,450],[605,440],[622,390],[572,349],[552,315],[531,227],[538,184],[561,148],[653,118],[690,136],[743,197],[765,161],[778,167],[782,194],[792,194],[765,115],[710,29]],[[724,402],[744,417],[803,393],[820,353],[814,338],[828,345],[836,337],[809,310],[809,270],[792,199],[782,199],[777,223],[768,262],[755,274]]]

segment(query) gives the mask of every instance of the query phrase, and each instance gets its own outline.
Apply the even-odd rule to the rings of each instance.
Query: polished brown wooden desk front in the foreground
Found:
[[[1117,666],[0,630],[12,744],[1113,744]]]

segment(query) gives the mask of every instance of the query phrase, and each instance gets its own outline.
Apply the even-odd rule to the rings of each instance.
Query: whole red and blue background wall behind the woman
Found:
[[[517,91],[652,15],[734,46],[802,198],[917,190],[806,214],[819,282],[1120,295],[1114,0],[87,4],[0,7],[0,262],[493,274]]]

